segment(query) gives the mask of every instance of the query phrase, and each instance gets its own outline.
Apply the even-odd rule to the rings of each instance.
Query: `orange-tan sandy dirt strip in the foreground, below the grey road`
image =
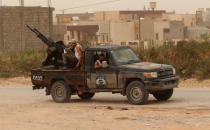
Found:
[[[0,108],[1,130],[209,130],[209,110],[21,104]]]

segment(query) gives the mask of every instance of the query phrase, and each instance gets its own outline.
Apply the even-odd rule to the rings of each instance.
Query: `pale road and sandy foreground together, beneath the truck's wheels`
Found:
[[[72,96],[56,104],[44,90],[0,87],[0,130],[210,129],[210,89],[179,88],[167,102],[150,96],[143,106],[126,97],[99,93],[91,101]]]

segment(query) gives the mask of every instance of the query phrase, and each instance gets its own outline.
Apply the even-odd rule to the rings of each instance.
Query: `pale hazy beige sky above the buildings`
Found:
[[[19,0],[2,0],[3,5],[16,6]],[[109,0],[51,0],[52,6],[55,7],[56,13],[61,13],[61,9],[81,6],[91,3],[98,3]],[[68,12],[87,12],[90,10],[135,10],[148,7],[149,2],[156,1],[157,9],[167,11],[175,10],[177,13],[192,13],[197,8],[210,8],[210,0],[121,0],[105,5],[97,5],[86,8],[68,10]],[[26,6],[47,6],[47,0],[25,0]]]

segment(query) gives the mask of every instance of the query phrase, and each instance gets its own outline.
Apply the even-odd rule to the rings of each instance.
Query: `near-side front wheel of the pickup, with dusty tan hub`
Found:
[[[143,105],[147,102],[149,92],[140,81],[133,81],[126,88],[127,99],[131,104]]]

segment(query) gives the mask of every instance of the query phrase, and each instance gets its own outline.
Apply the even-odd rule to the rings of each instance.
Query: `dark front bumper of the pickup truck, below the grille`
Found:
[[[174,76],[165,79],[155,79],[151,81],[144,81],[145,87],[147,90],[156,91],[156,90],[166,90],[177,88],[179,84],[179,77]]]

